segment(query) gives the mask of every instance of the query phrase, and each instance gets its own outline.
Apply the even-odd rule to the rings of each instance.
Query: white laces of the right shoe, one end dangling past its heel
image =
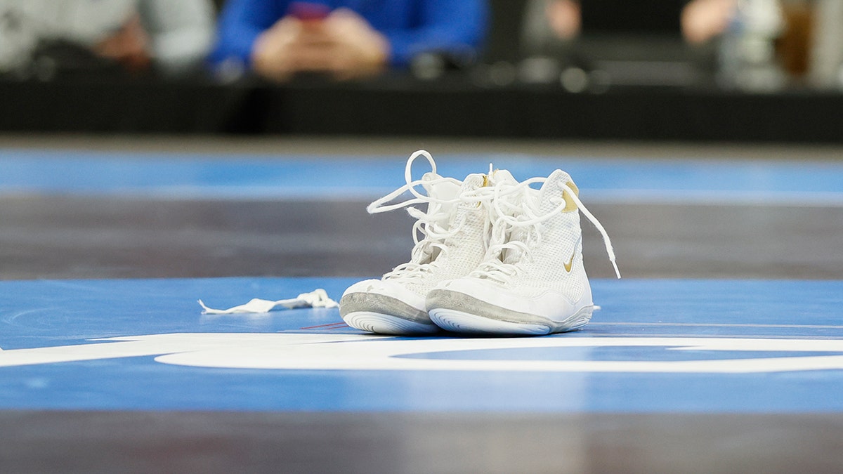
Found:
[[[495,213],[493,220],[495,222],[494,229],[498,236],[497,240],[502,240],[503,235],[507,233],[507,226],[510,228],[527,228],[535,226],[536,224],[545,222],[547,219],[561,213],[567,206],[565,200],[561,199],[560,204],[549,213],[538,214],[535,213],[530,206],[524,205],[524,201],[529,200],[529,196],[527,196],[527,194],[535,191],[529,186],[534,183],[544,183],[546,180],[547,178],[524,180],[521,183],[518,183],[518,185],[513,186],[513,188],[507,190],[506,194],[516,194],[520,191],[520,195],[516,195],[516,200],[518,202],[515,203],[512,202],[512,199],[502,199],[504,195],[500,192],[501,190],[495,190],[495,197],[492,200],[491,208]],[[586,218],[588,218],[589,221],[591,221],[594,227],[598,229],[599,233],[603,236],[603,242],[606,247],[606,253],[609,256],[609,261],[611,261],[612,267],[615,268],[615,275],[620,278],[620,269],[615,261],[615,250],[612,248],[612,241],[609,239],[609,234],[606,233],[606,229],[604,229],[603,224],[600,224],[599,220],[588,210],[588,207],[585,207],[583,202],[580,201],[579,197],[577,197],[576,191],[574,191],[571,185],[567,182],[560,182],[559,184],[563,191],[568,191],[568,196],[571,197],[572,201],[577,205],[577,208]],[[504,207],[506,207],[507,210],[504,210]],[[513,218],[509,215],[513,211],[518,211],[518,218]],[[522,252],[529,254],[529,246],[518,240],[490,245],[489,252],[490,255],[500,256],[503,250],[507,249],[521,250]],[[483,267],[473,272],[472,275],[475,277],[491,277],[501,283],[507,283],[507,280],[513,277],[515,272],[517,272],[517,268],[512,264],[507,264],[499,260],[489,260],[486,261]]]

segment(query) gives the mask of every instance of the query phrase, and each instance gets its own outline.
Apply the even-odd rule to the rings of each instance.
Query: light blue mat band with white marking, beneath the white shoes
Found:
[[[353,278],[0,282],[0,408],[839,412],[843,282],[593,280],[551,337],[376,337],[336,309],[202,315]]]

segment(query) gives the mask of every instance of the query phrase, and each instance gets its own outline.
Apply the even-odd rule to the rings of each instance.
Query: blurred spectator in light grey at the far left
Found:
[[[0,0],[0,73],[23,74],[44,51],[53,68],[87,60],[185,73],[207,56],[214,16],[210,0]]]

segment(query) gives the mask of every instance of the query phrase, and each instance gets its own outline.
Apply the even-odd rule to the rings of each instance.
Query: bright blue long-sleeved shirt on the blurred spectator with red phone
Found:
[[[260,33],[287,14],[289,0],[228,0],[218,22],[212,62],[250,63]],[[350,8],[389,40],[389,62],[406,66],[423,51],[475,51],[486,35],[485,0],[321,0]]]

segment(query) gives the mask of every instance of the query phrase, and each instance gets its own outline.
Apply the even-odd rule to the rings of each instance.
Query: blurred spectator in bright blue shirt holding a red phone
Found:
[[[228,0],[212,62],[278,81],[365,77],[422,53],[475,54],[487,16],[485,0]]]

